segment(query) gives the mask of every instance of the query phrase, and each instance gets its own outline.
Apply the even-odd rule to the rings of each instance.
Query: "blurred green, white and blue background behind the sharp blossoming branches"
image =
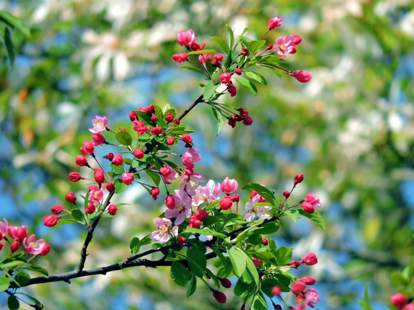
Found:
[[[410,0],[44,0],[0,1],[20,17],[31,37],[13,34],[16,62],[0,60],[0,218],[26,225],[52,246],[37,264],[51,274],[79,260],[83,227],[44,227],[50,207],[67,191],[86,187],[68,181],[75,156],[90,140],[91,120],[106,115],[111,129],[131,126],[128,112],[170,103],[181,113],[202,92],[202,76],[184,72],[172,54],[183,52],[178,31],[193,29],[198,43],[225,25],[260,38],[267,20],[283,24],[265,38],[299,34],[298,52],[286,69],[304,69],[306,84],[258,69],[268,81],[254,97],[238,87],[225,102],[244,107],[251,126],[217,122],[198,105],[184,122],[195,129],[203,158],[197,172],[221,182],[265,184],[276,193],[305,175],[292,200],[320,197],[325,231],[307,219],[285,222],[273,237],[294,248],[294,259],[316,253],[319,263],[297,275],[317,280],[320,309],[358,309],[370,281],[375,310],[386,309],[397,291],[390,274],[414,253],[414,9]],[[268,44],[267,43],[267,44]],[[109,126],[108,125],[108,126]],[[112,149],[102,147],[99,156]],[[179,147],[177,153],[184,148]],[[99,157],[98,156],[98,157]],[[84,172],[82,169],[80,172]],[[240,192],[239,192],[240,193]],[[240,193],[243,201],[248,193]],[[116,198],[130,203],[102,221],[86,267],[109,265],[129,253],[132,236],[153,230],[162,199],[133,186]],[[161,196],[160,196],[161,197]],[[2,253],[0,253],[1,257]],[[33,274],[35,275],[35,274]],[[199,283],[199,287],[202,285]],[[239,309],[226,291],[220,305],[205,289],[186,299],[168,269],[127,269],[106,276],[31,286],[45,309],[193,310]],[[5,308],[6,296],[0,296]],[[22,309],[26,309],[22,305]]]

